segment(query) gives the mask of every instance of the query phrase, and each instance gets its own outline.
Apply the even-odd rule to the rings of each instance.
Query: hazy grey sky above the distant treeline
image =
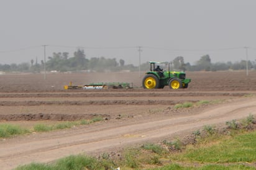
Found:
[[[256,59],[255,0],[0,0],[0,63],[85,50],[126,64]]]

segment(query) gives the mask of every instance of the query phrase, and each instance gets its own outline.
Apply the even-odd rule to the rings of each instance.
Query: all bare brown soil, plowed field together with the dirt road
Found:
[[[0,139],[1,169],[70,154],[96,154],[124,146],[185,136],[203,125],[256,114],[256,72],[191,72],[188,89],[142,89],[139,73],[0,75],[0,123],[35,123],[104,117],[102,122],[66,130]],[[63,90],[69,84],[127,82],[134,89]],[[216,101],[192,109],[183,102]]]

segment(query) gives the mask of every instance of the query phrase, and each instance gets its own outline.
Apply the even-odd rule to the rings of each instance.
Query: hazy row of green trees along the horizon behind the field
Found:
[[[37,61],[37,58],[34,60],[30,60],[30,63],[21,63],[11,64],[11,65],[1,65],[0,71],[21,71],[21,72],[33,72],[39,73],[44,70],[44,66],[47,71],[120,71],[122,69],[128,69],[130,71],[139,70],[138,66],[134,65],[125,65],[124,60],[116,61],[116,58],[86,58],[85,51],[78,49],[73,54],[73,57],[69,56],[69,53],[53,53],[52,56],[48,57],[48,61],[46,63],[41,60]],[[211,58],[209,55],[201,56],[201,58],[196,61],[195,65],[190,65],[190,63],[185,63],[183,56],[177,56],[174,60],[171,61],[171,68],[175,70],[183,70],[183,71],[221,71],[228,69],[246,69],[247,61],[241,60],[235,63],[231,61],[227,63],[211,63]],[[248,61],[249,69],[256,69],[256,63],[254,61]],[[143,63],[140,65],[141,71],[149,70],[149,63]]]

